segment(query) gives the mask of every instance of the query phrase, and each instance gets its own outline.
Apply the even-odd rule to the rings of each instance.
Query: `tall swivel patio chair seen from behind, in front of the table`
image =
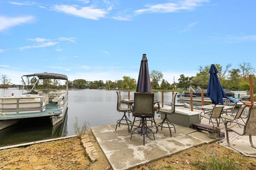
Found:
[[[134,93],[134,104],[132,109],[132,115],[134,117],[141,118],[139,126],[134,128],[131,132],[131,140],[132,134],[137,133],[143,135],[143,145],[145,145],[145,135],[153,133],[153,137],[155,140],[155,135],[152,129],[147,126],[146,118],[154,118],[155,108],[154,108],[154,94],[149,94],[145,92],[135,92]],[[134,118],[135,120],[135,118]],[[133,121],[134,124],[134,121]]]

